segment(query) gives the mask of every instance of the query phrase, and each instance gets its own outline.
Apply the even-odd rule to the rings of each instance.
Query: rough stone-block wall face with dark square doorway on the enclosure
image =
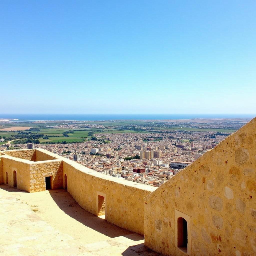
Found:
[[[45,177],[52,176],[51,189],[63,188],[62,160],[30,164],[30,192],[45,191]]]

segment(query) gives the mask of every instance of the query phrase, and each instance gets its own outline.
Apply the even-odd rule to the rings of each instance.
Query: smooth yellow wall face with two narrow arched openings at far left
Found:
[[[29,162],[23,159],[17,159],[9,156],[2,156],[2,175],[3,183],[7,184],[6,173],[8,174],[8,186],[13,187],[14,185],[14,171],[17,173],[17,188],[25,191],[30,191],[29,184]]]

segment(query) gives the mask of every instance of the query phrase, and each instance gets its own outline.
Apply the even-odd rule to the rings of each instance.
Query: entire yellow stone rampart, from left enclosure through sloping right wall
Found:
[[[106,176],[46,150],[3,151],[0,184],[66,188],[98,216],[144,234],[164,255],[256,255],[256,119],[158,189]]]

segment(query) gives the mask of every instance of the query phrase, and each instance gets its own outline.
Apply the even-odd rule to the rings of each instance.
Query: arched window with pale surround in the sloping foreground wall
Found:
[[[187,255],[191,251],[190,219],[190,216],[175,210],[175,246]]]

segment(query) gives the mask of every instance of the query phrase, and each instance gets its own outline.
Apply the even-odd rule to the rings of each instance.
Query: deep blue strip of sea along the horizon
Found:
[[[0,114],[0,119],[13,121],[37,120],[77,120],[77,121],[107,121],[107,120],[172,120],[198,118],[254,118],[256,114]]]

